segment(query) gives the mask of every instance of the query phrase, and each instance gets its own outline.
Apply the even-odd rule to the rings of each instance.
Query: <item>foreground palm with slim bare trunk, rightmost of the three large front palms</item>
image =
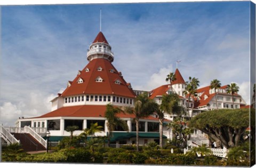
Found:
[[[179,101],[180,99],[176,93],[164,94],[162,97],[162,103],[156,110],[156,113],[159,119],[159,146],[161,148],[163,148],[164,113],[181,114],[181,111],[183,108],[179,106]]]

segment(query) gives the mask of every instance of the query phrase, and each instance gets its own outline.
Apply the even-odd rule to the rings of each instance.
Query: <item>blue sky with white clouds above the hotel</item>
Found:
[[[166,84],[176,61],[201,86],[236,82],[249,103],[250,2],[2,6],[1,122],[51,110],[102,32],[133,89]]]

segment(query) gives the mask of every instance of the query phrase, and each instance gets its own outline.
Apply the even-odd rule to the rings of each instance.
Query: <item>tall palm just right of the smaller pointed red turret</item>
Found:
[[[189,76],[189,81],[186,82],[186,87],[185,87],[185,91],[183,93],[185,94],[188,94],[188,103],[187,103],[187,114],[188,114],[188,117],[190,118],[189,116],[189,111],[188,111],[188,108],[189,108],[189,100],[190,100],[190,97],[193,96],[194,98],[197,97],[197,87],[199,86],[199,80],[198,78],[195,78],[195,77],[190,77]],[[195,99],[192,99],[193,100],[193,105],[192,105],[192,108],[191,108],[191,114],[193,114],[193,108],[194,108],[194,102],[195,102]]]

